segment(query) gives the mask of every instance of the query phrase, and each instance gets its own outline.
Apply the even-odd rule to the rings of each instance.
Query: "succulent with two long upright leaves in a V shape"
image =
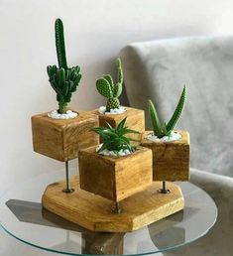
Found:
[[[183,110],[185,99],[186,99],[186,87],[184,85],[182,89],[182,93],[179,97],[177,106],[175,108],[175,112],[168,124],[166,122],[161,124],[156,107],[153,104],[152,100],[149,100],[149,114],[151,117],[154,135],[156,135],[158,138],[163,138],[164,136],[171,135],[172,131],[175,128],[175,124],[177,123],[181,115],[181,112]]]

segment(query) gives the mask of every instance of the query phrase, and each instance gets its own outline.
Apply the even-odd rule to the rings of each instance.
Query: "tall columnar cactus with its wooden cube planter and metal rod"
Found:
[[[72,93],[81,79],[78,65],[68,67],[66,63],[63,25],[55,23],[58,66],[49,65],[49,81],[57,93],[58,110],[32,117],[34,151],[58,161],[65,162],[66,189],[68,186],[68,160],[77,158],[80,149],[98,145],[98,136],[91,128],[98,125],[98,117],[87,112],[68,109]]]

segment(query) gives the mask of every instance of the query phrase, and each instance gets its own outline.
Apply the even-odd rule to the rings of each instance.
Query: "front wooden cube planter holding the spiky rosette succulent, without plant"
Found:
[[[152,185],[152,151],[140,147],[124,157],[97,154],[96,147],[78,155],[80,188],[119,201]]]

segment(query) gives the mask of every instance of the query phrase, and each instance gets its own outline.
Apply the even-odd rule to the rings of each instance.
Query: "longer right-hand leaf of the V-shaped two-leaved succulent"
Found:
[[[184,85],[183,89],[182,89],[182,93],[181,93],[181,95],[179,97],[177,106],[175,108],[175,112],[174,112],[171,120],[169,121],[168,125],[166,126],[168,131],[174,130],[175,124],[177,123],[177,121],[178,121],[178,119],[179,119],[179,117],[181,115],[181,112],[183,110],[185,99],[186,99],[186,87]]]

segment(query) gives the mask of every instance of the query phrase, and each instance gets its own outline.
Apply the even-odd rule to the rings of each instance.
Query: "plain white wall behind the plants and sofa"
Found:
[[[33,114],[57,108],[46,73],[48,64],[57,63],[56,18],[64,23],[68,64],[80,64],[83,73],[71,105],[92,109],[104,102],[95,91],[95,79],[114,72],[113,61],[122,47],[136,41],[230,34],[232,8],[227,0],[0,0],[0,194],[63,167],[33,153],[30,124]],[[32,255],[29,248],[1,235],[0,255],[13,255],[18,248],[21,255]]]

